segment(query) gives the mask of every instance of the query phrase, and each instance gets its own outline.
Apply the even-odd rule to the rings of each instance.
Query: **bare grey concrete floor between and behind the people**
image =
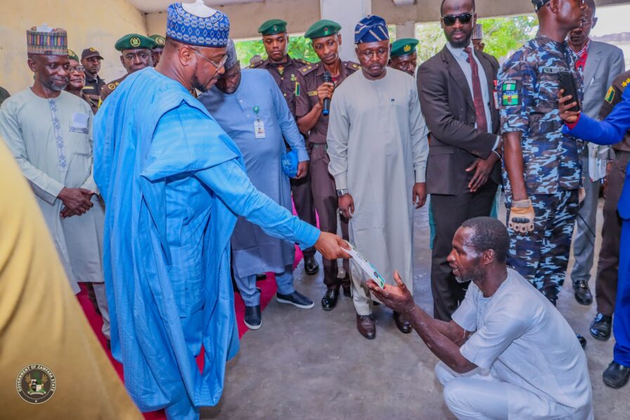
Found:
[[[416,212],[414,235],[414,296],[421,308],[432,313],[426,208]],[[596,255],[600,244],[598,238]],[[322,310],[320,298],[326,290],[322,270],[308,276],[301,263],[295,279],[296,289],[313,298],[315,308],[300,310],[271,301],[263,312],[263,327],[244,335],[239,355],[228,363],[223,399],[217,407],[202,409],[203,419],[454,418],[433,374],[438,359],[415,332],[398,332],[391,310],[376,307],[376,339],[368,341],[357,332],[350,298],[340,296],[334,310]],[[614,341],[591,338],[594,303],[579,305],[567,278],[558,310],[589,341],[586,355],[596,418],[630,419],[630,385],[613,390],[601,380],[612,360]]]

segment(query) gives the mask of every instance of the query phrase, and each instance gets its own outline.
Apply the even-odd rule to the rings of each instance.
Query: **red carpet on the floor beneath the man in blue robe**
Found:
[[[295,214],[295,209],[294,209],[294,214]],[[298,265],[301,259],[302,259],[302,251],[299,249],[299,247],[296,247],[294,268]],[[81,308],[83,308],[83,311],[86,317],[88,318],[88,322],[90,323],[92,329],[94,330],[94,334],[96,334],[96,337],[100,341],[100,344],[103,346],[105,353],[107,353],[107,357],[110,357],[112,365],[114,365],[114,369],[116,369],[116,372],[118,372],[120,379],[123,380],[124,377],[123,377],[122,365],[116,360],[114,360],[114,358],[112,357],[112,352],[110,352],[110,350],[107,348],[107,341],[105,341],[105,337],[103,336],[101,332],[101,329],[103,328],[103,320],[101,319],[100,315],[96,313],[96,310],[94,310],[94,307],[92,306],[90,298],[88,297],[88,294],[87,294],[86,285],[83,283],[80,283],[79,285],[81,286],[81,291],[79,292],[79,294],[77,294],[77,298],[79,299],[79,303],[81,303]],[[273,273],[267,273],[267,278],[265,280],[261,280],[260,282],[256,282],[256,287],[260,287],[261,289],[261,308],[264,310],[265,307],[273,298],[273,296],[275,295],[275,275]],[[241,295],[239,294],[235,294],[234,310],[236,313],[236,320],[238,324],[239,338],[241,338],[243,334],[247,332],[247,327],[245,326],[243,322],[243,317],[245,315],[245,306],[243,304]],[[203,366],[204,366],[203,349],[202,349],[201,354],[197,357],[197,365],[199,365],[199,370],[203,369]],[[144,416],[145,416],[145,419],[150,419],[150,420],[166,419],[166,416],[164,415],[164,410],[160,410],[157,412],[144,413]]]

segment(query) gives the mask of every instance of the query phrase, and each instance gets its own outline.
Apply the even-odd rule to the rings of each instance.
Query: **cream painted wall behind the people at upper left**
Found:
[[[126,0],[98,0],[69,4],[54,0],[11,1],[0,13],[0,86],[9,93],[32,85],[27,67],[26,29],[46,22],[68,32],[69,47],[81,55],[94,46],[103,55],[100,77],[113,80],[125,73],[114,50],[125,34],[147,34],[145,15]]]

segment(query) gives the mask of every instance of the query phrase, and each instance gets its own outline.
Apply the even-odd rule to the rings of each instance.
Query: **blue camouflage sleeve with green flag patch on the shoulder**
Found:
[[[525,60],[508,61],[498,75],[501,134],[529,130],[534,103],[534,71]]]

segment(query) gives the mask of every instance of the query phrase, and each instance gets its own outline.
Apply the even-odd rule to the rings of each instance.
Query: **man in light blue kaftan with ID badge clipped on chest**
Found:
[[[284,139],[298,155],[296,177],[302,178],[308,170],[304,138],[269,72],[241,70],[232,40],[227,50],[225,74],[198,99],[236,143],[254,187],[291,211],[291,185],[281,162],[287,152]],[[232,234],[232,270],[245,303],[244,322],[249,329],[262,325],[257,273],[276,273],[280,303],[313,308],[313,301],[293,287],[294,260],[292,242],[271,237],[244,217],[238,218]]]

